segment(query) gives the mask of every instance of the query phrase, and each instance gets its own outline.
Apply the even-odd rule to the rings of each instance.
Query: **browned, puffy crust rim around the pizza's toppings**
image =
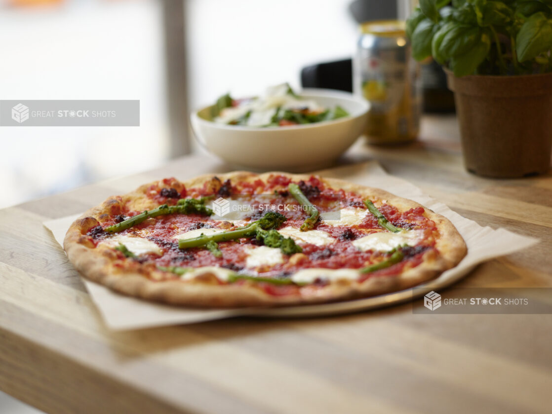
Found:
[[[217,174],[221,181],[230,179],[232,182],[250,181],[261,179],[266,182],[272,174],[282,174],[293,181],[307,180],[310,175],[288,174],[283,172],[269,172],[254,174],[245,171],[237,171],[227,174]],[[205,174],[200,177],[182,182],[186,188],[200,187],[206,181],[210,181],[214,174]],[[385,200],[386,203],[405,211],[417,208],[421,205],[412,200],[397,197],[385,190],[363,187],[339,179],[320,178],[325,185],[333,189],[343,189],[355,192],[373,201]],[[213,272],[206,271],[199,274],[194,280],[183,282],[182,280],[160,280],[163,272],[153,270],[146,272],[123,271],[113,267],[116,253],[110,248],[94,247],[86,233],[102,222],[110,215],[119,214],[125,205],[132,205],[136,211],[150,210],[157,204],[144,194],[157,182],[142,185],[134,192],[120,197],[109,198],[100,206],[92,208],[84,213],[71,225],[67,231],[63,247],[67,257],[75,265],[77,270],[88,279],[108,286],[119,293],[135,296],[137,298],[164,302],[173,305],[190,305],[198,307],[246,307],[246,306],[284,306],[316,304],[323,302],[342,301],[363,298],[399,291],[416,286],[427,280],[436,278],[444,270],[456,266],[466,254],[466,245],[454,225],[445,217],[433,213],[425,208],[428,219],[433,220],[440,233],[436,242],[436,248],[440,255],[434,251],[428,251],[423,255],[420,265],[406,270],[399,275],[383,275],[368,278],[363,283],[351,280],[337,280],[322,288],[309,288],[302,286],[300,295],[273,296],[258,289],[256,282],[246,282],[241,285],[211,284],[205,281],[216,279]]]

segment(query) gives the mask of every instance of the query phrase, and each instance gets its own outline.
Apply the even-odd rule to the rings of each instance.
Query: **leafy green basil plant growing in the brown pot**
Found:
[[[552,71],[552,0],[420,0],[406,33],[455,76]]]

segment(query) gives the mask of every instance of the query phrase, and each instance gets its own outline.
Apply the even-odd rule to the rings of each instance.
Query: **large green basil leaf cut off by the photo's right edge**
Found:
[[[552,24],[543,12],[529,17],[516,36],[516,52],[520,62],[550,50],[552,46]]]

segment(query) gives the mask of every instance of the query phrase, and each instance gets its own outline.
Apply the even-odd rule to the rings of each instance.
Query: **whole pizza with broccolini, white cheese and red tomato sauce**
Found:
[[[382,189],[312,175],[166,178],[110,197],[67,231],[94,282],[174,305],[343,301],[410,288],[466,254],[445,217]]]

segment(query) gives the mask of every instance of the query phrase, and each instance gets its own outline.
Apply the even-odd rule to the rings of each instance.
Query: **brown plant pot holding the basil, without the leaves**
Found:
[[[448,87],[454,92],[468,171],[496,178],[548,171],[552,73],[458,78],[446,72]]]

